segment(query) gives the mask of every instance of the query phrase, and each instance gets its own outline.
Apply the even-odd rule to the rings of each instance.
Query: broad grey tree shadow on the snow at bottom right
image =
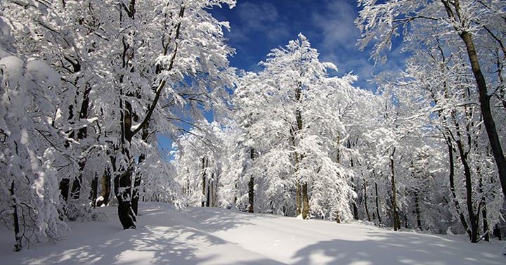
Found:
[[[323,240],[298,250],[294,264],[505,264],[490,243],[472,244],[436,235],[368,231],[372,240]]]

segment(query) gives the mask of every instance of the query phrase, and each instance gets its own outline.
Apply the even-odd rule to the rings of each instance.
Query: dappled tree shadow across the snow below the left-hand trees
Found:
[[[195,209],[180,212],[169,205],[143,205],[138,216],[140,226],[121,230],[114,209],[105,209],[110,222],[79,224],[69,238],[56,245],[35,245],[25,257],[9,255],[13,264],[282,264],[249,254],[237,257],[228,250],[247,250],[209,234],[248,223],[220,209]],[[183,216],[183,215],[187,216]],[[216,215],[216,216],[213,216]],[[252,214],[249,216],[253,217]],[[188,218],[190,217],[190,218]],[[202,220],[199,220],[202,218]],[[76,227],[78,227],[76,226]],[[100,233],[93,232],[98,229]],[[89,235],[96,235],[96,238]],[[83,245],[82,242],[86,242]],[[38,249],[37,249],[38,248]],[[44,255],[41,257],[41,255]],[[230,256],[230,257],[227,257]]]

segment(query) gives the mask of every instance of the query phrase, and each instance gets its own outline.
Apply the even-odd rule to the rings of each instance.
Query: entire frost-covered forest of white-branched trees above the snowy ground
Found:
[[[100,226],[105,206],[118,229],[142,227],[140,202],[505,240],[506,1],[354,2],[358,48],[375,65],[399,43],[406,56],[377,89],[304,32],[257,71],[231,66],[211,10],[236,4],[0,1],[0,223],[15,252]]]

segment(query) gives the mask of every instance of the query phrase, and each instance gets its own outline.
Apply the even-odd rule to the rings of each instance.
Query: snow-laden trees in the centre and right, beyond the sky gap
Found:
[[[406,70],[375,77],[372,93],[337,77],[302,34],[273,49],[240,75],[229,120],[181,139],[186,204],[209,206],[210,170],[218,207],[500,238],[505,2],[358,2],[361,47],[384,62],[403,41]]]

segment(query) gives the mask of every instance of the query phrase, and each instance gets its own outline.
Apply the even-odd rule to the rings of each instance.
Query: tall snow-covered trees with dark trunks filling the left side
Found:
[[[221,4],[235,0],[1,1],[0,219],[15,250],[110,200],[124,228],[140,198],[175,200],[156,135],[229,96],[228,24],[208,12]]]

